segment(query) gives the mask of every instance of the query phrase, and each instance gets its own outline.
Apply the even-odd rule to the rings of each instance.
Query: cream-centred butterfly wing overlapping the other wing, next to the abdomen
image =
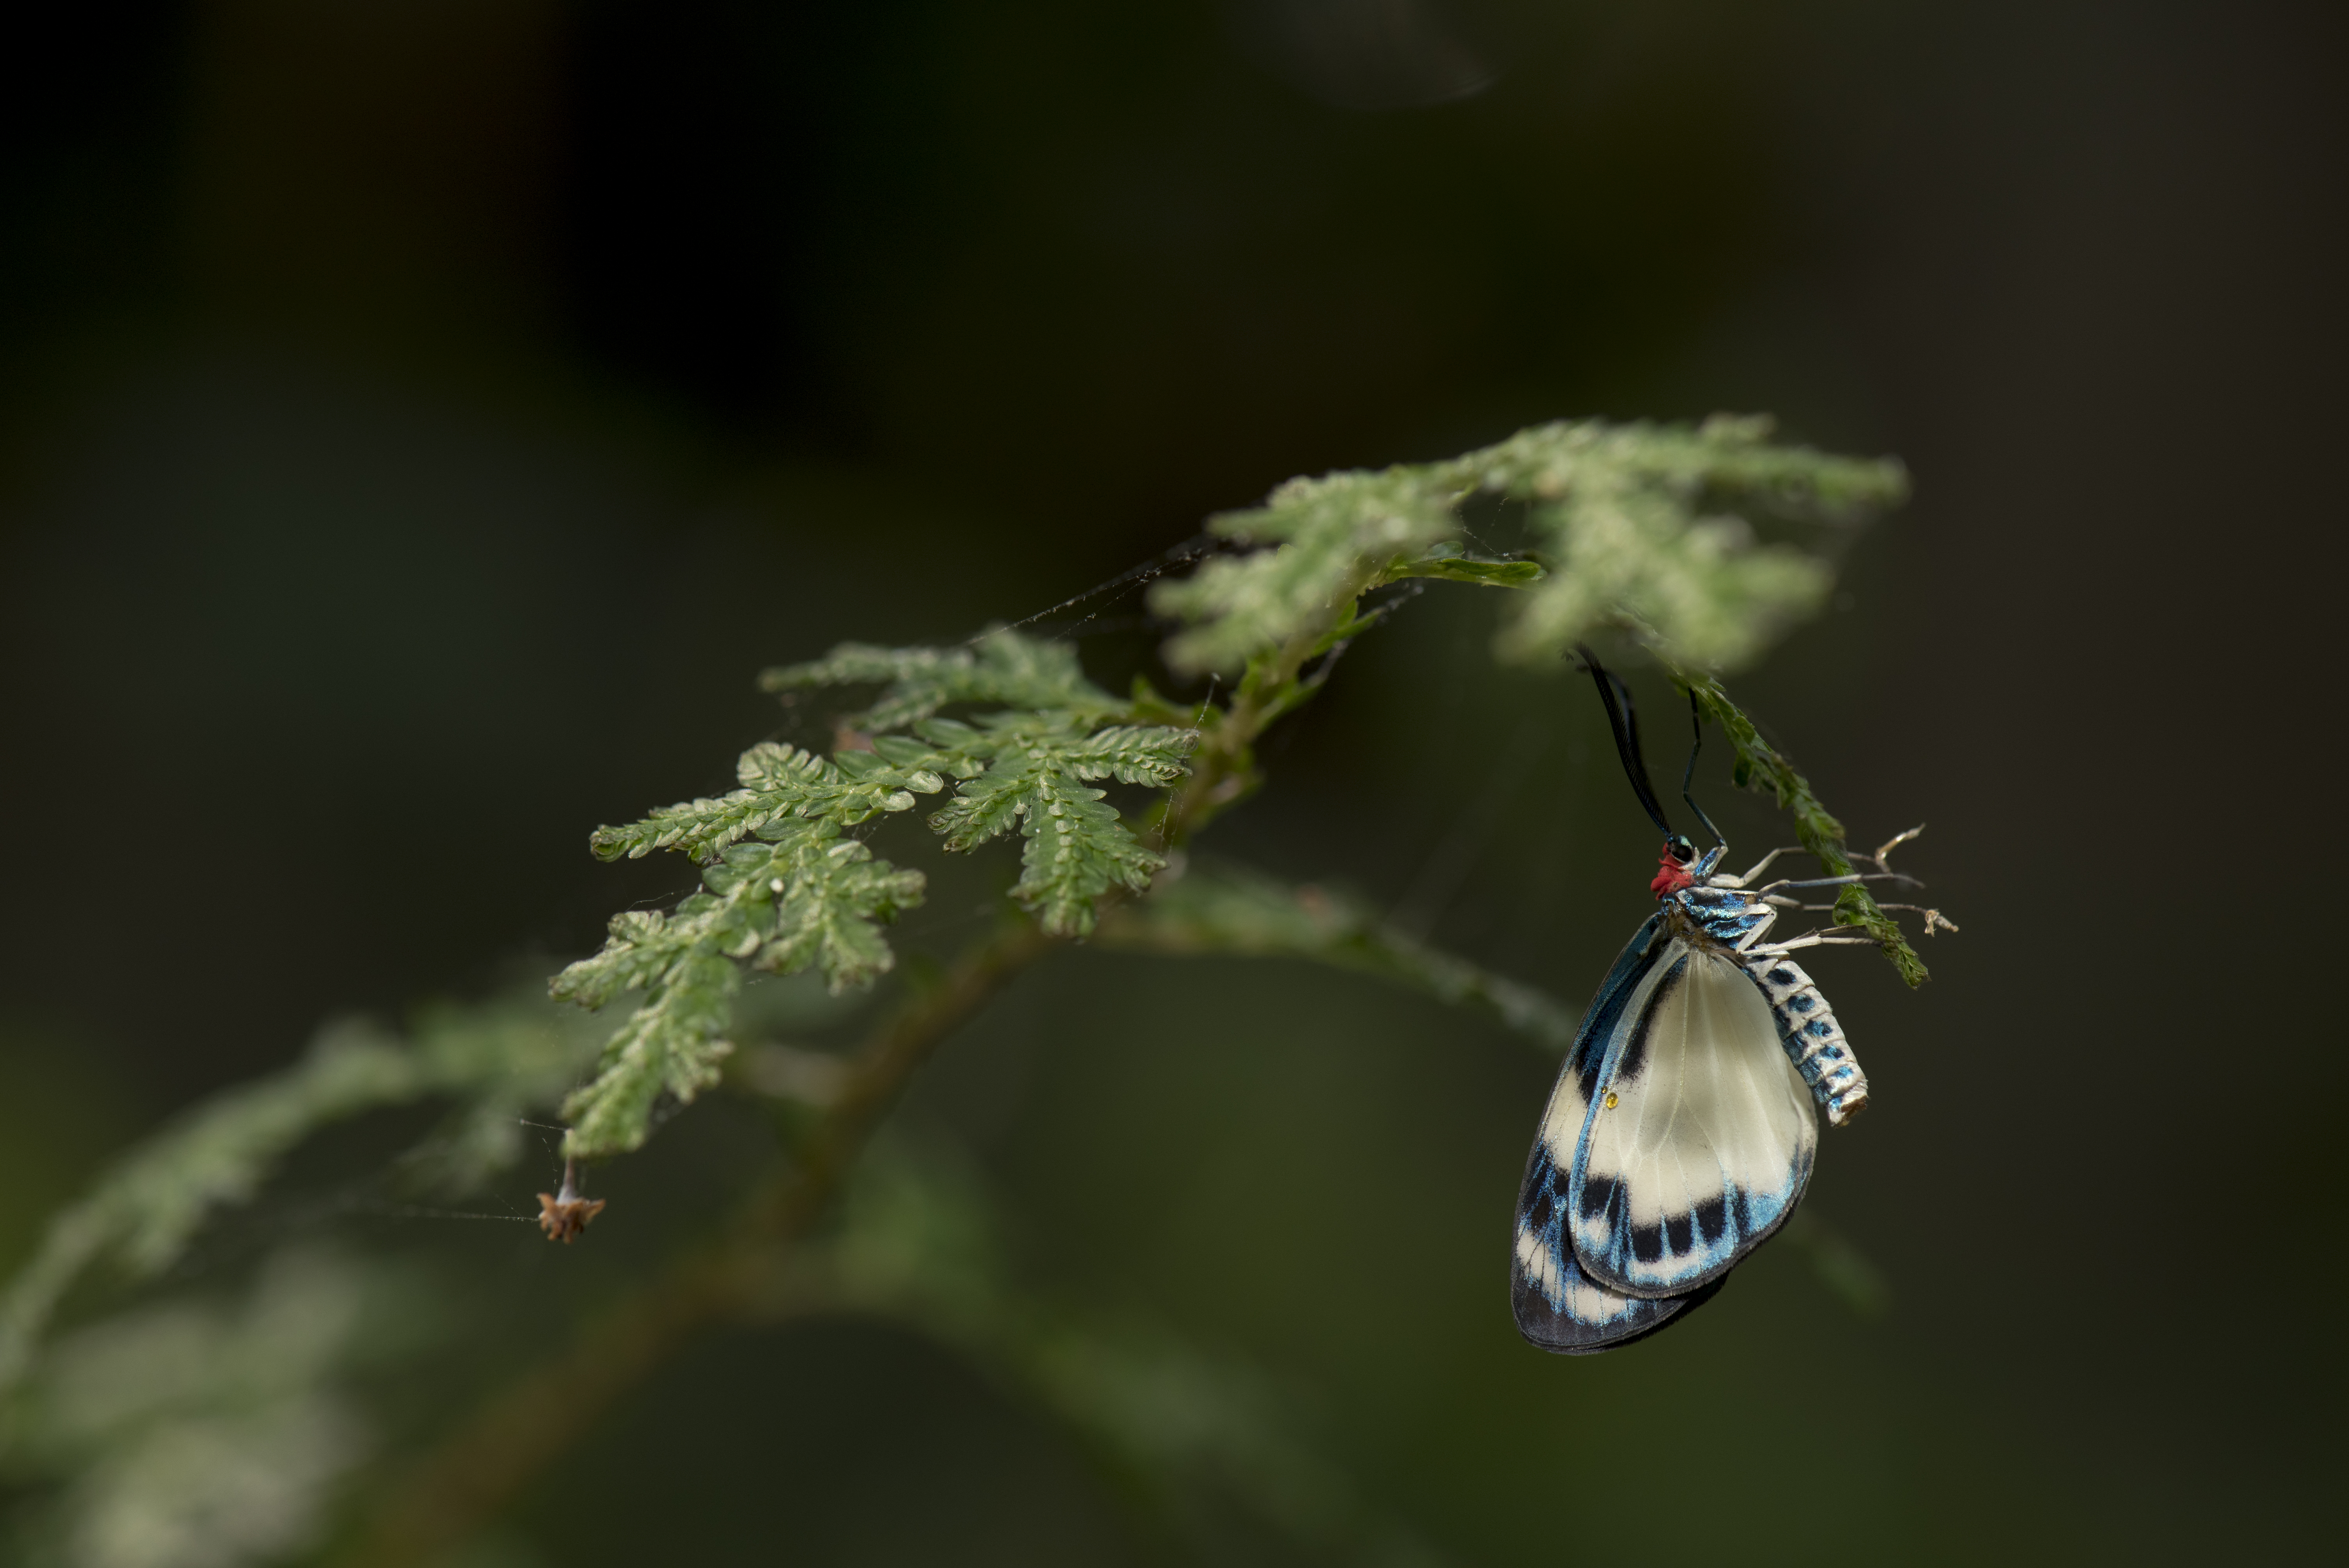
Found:
[[[1564,1197],[1576,1263],[1607,1291],[1677,1298],[1722,1279],[1811,1181],[1811,1094],[1727,958],[1668,941],[1581,1082],[1597,1103]]]

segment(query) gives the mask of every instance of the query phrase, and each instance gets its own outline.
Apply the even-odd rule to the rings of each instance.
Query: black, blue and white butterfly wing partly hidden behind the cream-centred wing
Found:
[[[1661,915],[1649,918],[1600,981],[1597,1000],[1583,1014],[1574,1049],[1567,1052],[1557,1087],[1550,1089],[1550,1106],[1541,1115],[1541,1131],[1534,1136],[1534,1153],[1527,1155],[1525,1181],[1517,1188],[1510,1307],[1517,1314],[1517,1333],[1543,1350],[1564,1354],[1614,1350],[1654,1333],[1710,1296],[1708,1289],[1675,1300],[1642,1300],[1609,1291],[1583,1272],[1567,1235],[1567,1181],[1590,1113],[1590,1091],[1623,1021],[1640,1014],[1640,1002],[1661,979],[1658,925]]]

